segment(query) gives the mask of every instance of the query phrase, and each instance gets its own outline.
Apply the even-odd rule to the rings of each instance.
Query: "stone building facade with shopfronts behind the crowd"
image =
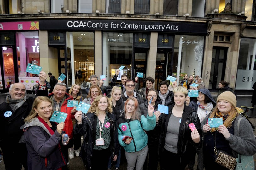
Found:
[[[65,74],[67,87],[86,88],[91,74],[109,85],[121,66],[156,89],[168,75],[199,75],[213,91],[220,80],[236,90],[256,80],[255,0],[1,0],[0,13],[2,91],[31,89],[31,64]]]

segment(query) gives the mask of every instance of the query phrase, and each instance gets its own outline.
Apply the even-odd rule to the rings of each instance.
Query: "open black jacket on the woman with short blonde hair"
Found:
[[[160,140],[159,140],[159,154],[161,156],[161,153],[164,151],[164,146],[165,146],[165,137],[167,133],[167,126],[168,122],[170,119],[170,116],[172,114],[172,108],[174,104],[169,106],[169,114],[162,114],[160,116],[160,126],[161,126],[161,134],[160,134]],[[189,124],[194,123],[196,129],[198,130],[200,134],[200,142],[198,144],[194,143],[193,140],[191,139],[191,130],[189,129]],[[178,137],[178,156],[181,160],[181,157],[185,154],[186,152],[186,147],[187,144],[190,142],[195,149],[199,149],[202,145],[202,130],[201,130],[201,124],[200,120],[197,116],[197,113],[189,108],[188,106],[184,106],[182,118],[181,118],[181,123],[179,127],[179,137]]]

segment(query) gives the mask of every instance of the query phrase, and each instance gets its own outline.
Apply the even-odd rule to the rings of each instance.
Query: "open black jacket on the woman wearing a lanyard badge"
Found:
[[[106,113],[108,116],[109,123],[110,123],[110,152],[111,156],[118,155],[119,152],[119,142],[118,142],[118,133],[117,133],[117,124],[116,124],[116,118],[111,113]],[[83,162],[87,163],[87,168],[91,169],[92,167],[92,150],[94,146],[94,142],[96,139],[96,127],[97,127],[97,118],[94,113],[87,113],[85,114],[85,118],[82,119],[82,124],[75,124],[74,127],[74,135],[78,134],[80,136],[86,134],[86,137],[83,141],[81,151],[79,156],[82,157]],[[97,158],[94,158],[97,159]],[[100,163],[100,162],[99,162]]]

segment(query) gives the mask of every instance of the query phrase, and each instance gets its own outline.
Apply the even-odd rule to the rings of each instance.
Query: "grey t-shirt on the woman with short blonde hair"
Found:
[[[172,153],[178,153],[178,137],[179,137],[179,127],[180,127],[181,117],[176,117],[173,114],[170,116],[167,133],[165,136],[165,146],[164,148]]]

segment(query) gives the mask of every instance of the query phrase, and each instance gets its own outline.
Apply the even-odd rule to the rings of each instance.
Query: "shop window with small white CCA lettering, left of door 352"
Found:
[[[131,61],[132,61],[132,33],[103,33],[102,36],[102,68],[107,68],[107,81],[110,83],[115,74],[115,70],[120,66],[125,66],[120,71],[117,78],[117,84],[121,84],[121,75],[126,74],[131,79]],[[136,57],[143,60],[143,55]]]

